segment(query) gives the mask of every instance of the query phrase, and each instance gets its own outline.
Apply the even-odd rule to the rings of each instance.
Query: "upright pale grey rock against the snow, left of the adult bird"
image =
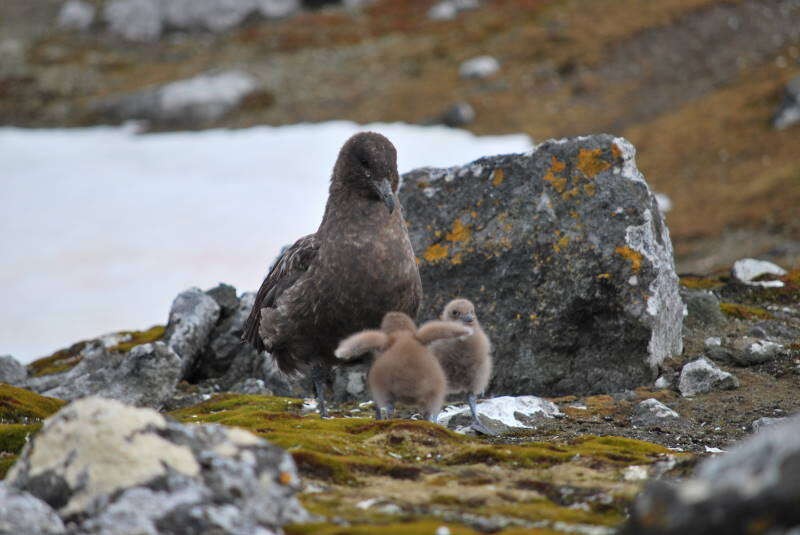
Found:
[[[192,369],[219,319],[220,307],[213,297],[190,288],[172,302],[164,340],[181,359],[181,378]]]

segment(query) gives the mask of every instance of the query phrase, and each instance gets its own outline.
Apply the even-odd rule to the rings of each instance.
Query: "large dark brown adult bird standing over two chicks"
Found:
[[[242,339],[286,373],[310,372],[320,413],[339,340],[377,327],[391,310],[415,317],[422,284],[396,191],[397,153],[380,134],[351,137],[333,169],[317,232],[278,257]]]

